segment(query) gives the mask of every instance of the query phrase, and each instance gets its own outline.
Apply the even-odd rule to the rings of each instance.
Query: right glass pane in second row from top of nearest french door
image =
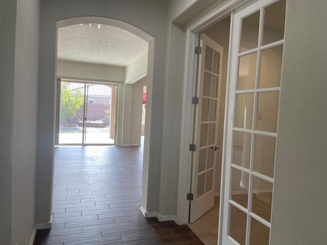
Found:
[[[281,86],[283,45],[261,52],[259,88]]]

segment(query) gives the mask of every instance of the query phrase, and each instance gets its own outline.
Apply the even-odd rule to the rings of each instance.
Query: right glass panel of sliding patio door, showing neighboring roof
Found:
[[[112,114],[112,90],[116,87],[104,84],[86,84],[86,86],[85,143],[114,143],[110,125],[111,117],[114,116]]]

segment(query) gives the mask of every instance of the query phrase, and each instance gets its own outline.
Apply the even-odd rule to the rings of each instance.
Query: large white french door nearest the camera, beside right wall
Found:
[[[232,15],[219,242],[269,244],[286,0]]]

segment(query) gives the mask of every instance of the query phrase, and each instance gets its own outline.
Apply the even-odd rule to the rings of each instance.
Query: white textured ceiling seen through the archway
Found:
[[[76,24],[58,29],[58,59],[62,60],[127,66],[147,51],[146,41],[112,26]]]

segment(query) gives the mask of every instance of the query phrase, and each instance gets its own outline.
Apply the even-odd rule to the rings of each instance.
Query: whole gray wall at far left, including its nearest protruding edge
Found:
[[[28,244],[35,227],[39,1],[0,5],[0,240]]]

